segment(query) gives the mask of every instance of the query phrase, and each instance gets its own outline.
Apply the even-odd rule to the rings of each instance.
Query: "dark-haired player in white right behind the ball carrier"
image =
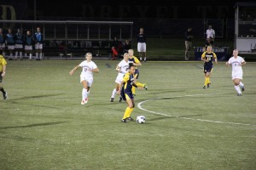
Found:
[[[125,76],[125,73],[129,71],[129,54],[125,53],[124,54],[124,59],[119,62],[119,64],[116,67],[116,71],[119,72],[118,76],[115,79],[115,88],[113,88],[112,96],[110,98],[110,101],[113,102],[114,96],[117,94],[119,91],[119,84],[123,81],[123,78]]]

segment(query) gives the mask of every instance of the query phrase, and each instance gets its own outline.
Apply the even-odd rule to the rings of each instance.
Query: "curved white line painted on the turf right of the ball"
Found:
[[[212,121],[212,120],[207,120],[207,119],[194,119],[194,118],[189,118],[189,117],[183,117],[183,116],[171,116],[171,115],[166,115],[164,113],[156,112],[156,111],[149,111],[146,110],[142,107],[142,105],[148,101],[156,100],[156,99],[175,99],[175,98],[186,98],[186,97],[195,97],[195,96],[203,96],[203,95],[213,95],[213,94],[192,94],[192,95],[184,95],[184,96],[173,96],[173,97],[163,97],[163,98],[155,98],[155,99],[147,99],[144,100],[140,103],[137,104],[137,107],[140,110],[147,111],[149,113],[153,113],[155,115],[161,115],[161,116],[169,116],[169,117],[175,117],[175,118],[180,118],[180,119],[186,119],[186,120],[191,120],[191,121],[201,121],[201,122],[213,122],[213,123],[222,123],[222,124],[232,124],[232,125],[244,125],[244,126],[256,126],[253,124],[245,124],[245,123],[240,123],[240,122],[221,122],[221,121]],[[218,94],[214,94],[218,95]]]

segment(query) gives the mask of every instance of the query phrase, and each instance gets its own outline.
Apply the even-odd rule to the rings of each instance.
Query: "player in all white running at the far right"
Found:
[[[246,61],[238,56],[238,50],[234,49],[233,57],[226,62],[227,66],[232,65],[232,81],[235,84],[235,89],[238,96],[241,96],[241,91],[244,91],[244,84],[241,82],[242,80],[242,69],[241,65],[246,65]]]

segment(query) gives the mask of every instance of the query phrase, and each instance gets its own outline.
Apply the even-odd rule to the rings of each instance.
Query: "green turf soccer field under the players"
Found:
[[[8,61],[0,96],[0,169],[256,169],[256,63],[243,66],[236,96],[231,67],[214,65],[203,89],[203,63],[147,62],[140,67],[133,118],[109,101],[119,61],[96,60],[87,105],[80,105],[80,61]]]

